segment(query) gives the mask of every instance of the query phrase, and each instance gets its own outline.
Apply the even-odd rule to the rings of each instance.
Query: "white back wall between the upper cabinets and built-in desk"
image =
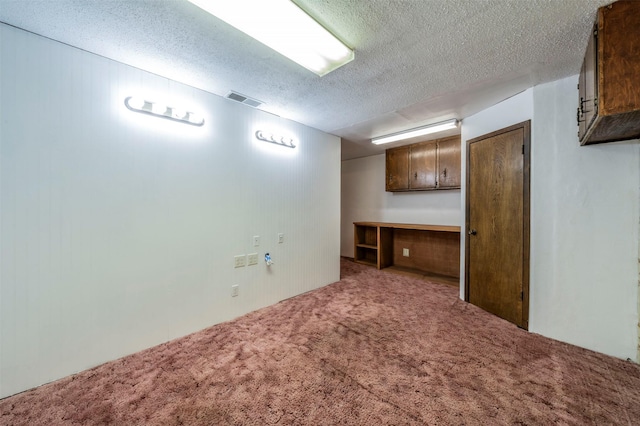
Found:
[[[353,222],[460,224],[460,190],[386,192],[385,155],[342,162],[342,256],[353,257]]]

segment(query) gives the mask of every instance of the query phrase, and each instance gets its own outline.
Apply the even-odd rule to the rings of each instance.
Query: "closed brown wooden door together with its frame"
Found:
[[[526,121],[467,145],[466,300],[525,329],[530,125]]]

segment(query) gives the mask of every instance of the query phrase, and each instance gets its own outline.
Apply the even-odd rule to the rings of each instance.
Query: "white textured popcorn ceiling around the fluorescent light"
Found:
[[[384,152],[373,136],[463,119],[577,74],[596,10],[610,3],[295,2],[355,60],[318,77],[186,0],[0,0],[0,21],[220,96],[259,99],[260,109],[342,137],[349,159]]]

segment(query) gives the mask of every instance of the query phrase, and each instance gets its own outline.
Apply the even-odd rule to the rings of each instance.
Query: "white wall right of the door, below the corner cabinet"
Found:
[[[530,329],[635,359],[640,143],[579,146],[576,83],[533,92]]]

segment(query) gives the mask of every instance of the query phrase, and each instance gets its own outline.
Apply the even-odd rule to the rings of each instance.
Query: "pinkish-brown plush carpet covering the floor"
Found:
[[[341,281],[0,401],[2,425],[637,425],[640,366],[451,286]]]

